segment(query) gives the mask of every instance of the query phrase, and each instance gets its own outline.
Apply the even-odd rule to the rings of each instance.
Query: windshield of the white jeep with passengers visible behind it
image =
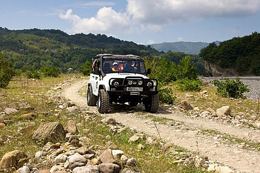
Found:
[[[146,74],[145,64],[139,59],[103,59],[103,71],[107,73]]]

